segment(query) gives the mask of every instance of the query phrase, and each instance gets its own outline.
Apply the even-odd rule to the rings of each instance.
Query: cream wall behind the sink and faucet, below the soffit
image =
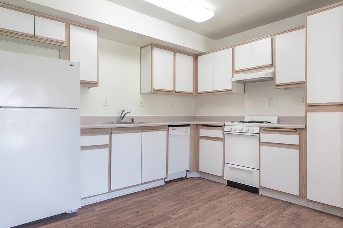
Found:
[[[98,48],[99,86],[81,87],[81,115],[118,115],[122,109],[134,116],[193,115],[194,97],[140,94],[140,48],[101,38]],[[103,97],[108,106],[103,106]]]

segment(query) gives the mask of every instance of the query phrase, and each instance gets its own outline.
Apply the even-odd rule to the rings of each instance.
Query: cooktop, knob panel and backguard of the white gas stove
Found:
[[[225,132],[259,133],[258,125],[261,123],[279,123],[278,116],[246,116],[244,121],[225,123]]]

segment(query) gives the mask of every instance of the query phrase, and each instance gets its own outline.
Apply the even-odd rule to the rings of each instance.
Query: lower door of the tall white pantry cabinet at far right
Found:
[[[343,208],[343,112],[307,113],[307,199]]]

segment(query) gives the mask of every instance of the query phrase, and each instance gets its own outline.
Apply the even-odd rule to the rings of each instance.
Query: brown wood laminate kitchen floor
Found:
[[[210,180],[189,178],[19,227],[342,228],[343,218]]]

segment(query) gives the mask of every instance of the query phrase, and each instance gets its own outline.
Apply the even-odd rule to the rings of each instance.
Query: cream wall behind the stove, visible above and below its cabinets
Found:
[[[305,25],[304,14],[222,38],[216,41],[216,49],[272,35],[301,25]],[[304,87],[282,90],[274,88],[274,81],[249,83],[245,85],[245,94],[196,96],[194,98],[194,115],[305,116],[305,105],[301,105],[301,96],[305,96]],[[268,98],[273,98],[272,107],[268,107]],[[202,103],[204,103],[204,107]]]

